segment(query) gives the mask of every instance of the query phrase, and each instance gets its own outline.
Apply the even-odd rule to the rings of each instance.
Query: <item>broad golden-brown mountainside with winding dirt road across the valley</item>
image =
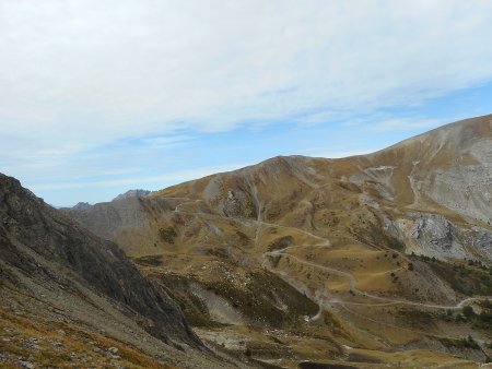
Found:
[[[231,352],[292,367],[395,360],[382,352],[410,362],[415,349],[434,353],[417,366],[484,361],[491,120],[371,155],[276,157],[68,213],[120,245],[204,341]],[[467,306],[477,314],[462,316]]]

